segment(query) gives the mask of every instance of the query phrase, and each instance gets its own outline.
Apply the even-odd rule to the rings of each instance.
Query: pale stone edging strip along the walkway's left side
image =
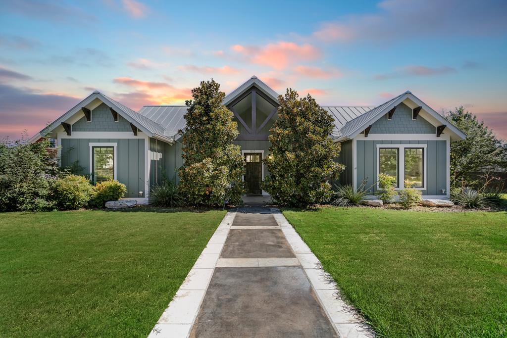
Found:
[[[149,338],[186,338],[201,307],[236,212],[227,212],[202,250],[187,278],[160,316]]]

